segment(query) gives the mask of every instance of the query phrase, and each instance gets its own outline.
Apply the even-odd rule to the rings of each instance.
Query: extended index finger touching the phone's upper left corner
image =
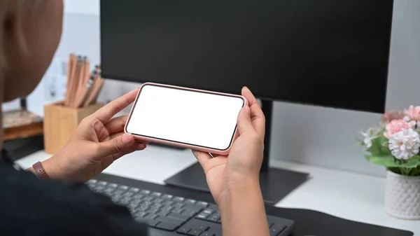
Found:
[[[128,105],[132,104],[137,97],[139,89],[132,90],[125,95],[118,97],[109,104],[106,104],[101,109],[93,113],[94,118],[97,118],[102,123],[106,123],[109,119],[116,115],[116,113],[125,109]]]

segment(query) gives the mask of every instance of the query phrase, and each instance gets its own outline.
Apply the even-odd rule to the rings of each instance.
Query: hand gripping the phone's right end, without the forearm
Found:
[[[248,100],[248,105],[239,113],[239,137],[229,155],[212,158],[209,153],[193,151],[206,173],[216,203],[223,201],[236,188],[260,187],[258,176],[264,149],[265,116],[248,88],[243,88],[241,93]]]

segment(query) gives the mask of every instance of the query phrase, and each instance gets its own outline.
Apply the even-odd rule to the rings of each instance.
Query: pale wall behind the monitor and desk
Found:
[[[65,3],[64,34],[56,58],[83,53],[92,62],[99,62],[99,0],[66,0]],[[420,1],[395,0],[387,109],[420,104],[419,12]],[[99,99],[114,99],[137,86],[106,81]],[[29,97],[29,109],[37,113],[42,113],[43,104],[50,102],[45,99],[44,88],[45,80]],[[360,102],[365,97],[354,92],[353,98]],[[384,169],[367,162],[351,139],[378,119],[378,114],[276,102],[271,158],[384,176]]]

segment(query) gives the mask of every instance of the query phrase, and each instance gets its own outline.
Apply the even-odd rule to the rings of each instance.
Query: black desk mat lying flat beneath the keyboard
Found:
[[[181,197],[193,198],[205,202],[213,202],[209,193],[199,190],[186,190],[175,186],[160,185],[134,179],[127,179],[120,176],[100,174],[96,179],[109,181],[137,188],[144,188],[160,193],[178,195]],[[289,218],[295,221],[293,234],[291,236],[412,236],[412,232],[394,228],[371,225],[356,221],[349,221],[343,218],[324,214],[319,211],[307,209],[286,209],[266,206],[267,214]],[[362,213],[360,213],[362,214]],[[420,227],[420,223],[419,223]]]

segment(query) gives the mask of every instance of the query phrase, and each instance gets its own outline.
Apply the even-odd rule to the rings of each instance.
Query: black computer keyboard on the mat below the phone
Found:
[[[170,232],[168,235],[222,235],[216,204],[94,179],[87,181],[87,186],[128,207],[136,221]],[[267,220],[270,235],[285,236],[291,232],[293,221],[274,216],[267,216]]]

